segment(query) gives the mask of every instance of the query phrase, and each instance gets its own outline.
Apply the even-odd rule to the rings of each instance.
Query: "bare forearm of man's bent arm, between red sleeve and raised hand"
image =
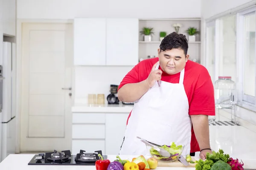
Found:
[[[137,83],[123,85],[117,92],[119,101],[134,102],[140,99],[149,89],[146,80]]]

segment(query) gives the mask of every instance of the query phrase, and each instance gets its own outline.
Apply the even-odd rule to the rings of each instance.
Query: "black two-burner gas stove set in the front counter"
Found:
[[[98,150],[95,153],[87,153],[85,150],[80,150],[80,153],[71,155],[70,150],[58,152],[38,153],[28,163],[28,165],[95,165],[99,160],[98,154],[102,155],[102,151]],[[103,159],[107,159],[106,155],[102,155]]]

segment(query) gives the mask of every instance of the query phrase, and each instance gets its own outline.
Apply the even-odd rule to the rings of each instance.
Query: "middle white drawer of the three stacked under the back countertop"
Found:
[[[105,139],[105,125],[72,125],[73,139]]]

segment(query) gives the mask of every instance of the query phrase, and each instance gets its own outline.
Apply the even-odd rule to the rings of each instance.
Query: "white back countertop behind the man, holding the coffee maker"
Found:
[[[113,105],[89,105],[76,103],[72,107],[72,112],[103,112],[103,113],[130,113],[134,105],[123,105],[123,104],[113,104]]]

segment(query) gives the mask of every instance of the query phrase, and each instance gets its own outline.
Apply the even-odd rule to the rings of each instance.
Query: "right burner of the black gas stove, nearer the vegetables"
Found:
[[[98,154],[102,155],[102,151],[95,151],[97,153],[86,153],[85,150],[80,150],[80,153],[76,154],[75,161],[81,162],[96,162],[99,160]]]

